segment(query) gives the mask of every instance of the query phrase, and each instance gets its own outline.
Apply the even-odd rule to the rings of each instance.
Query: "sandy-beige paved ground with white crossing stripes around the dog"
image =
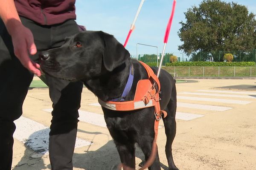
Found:
[[[256,170],[256,89],[216,87],[250,85],[255,79],[192,79],[177,84],[177,134],[173,144],[180,170]],[[48,133],[51,120],[48,89],[29,90],[23,116],[15,124],[13,170],[50,170]],[[110,170],[119,163],[96,97],[82,92],[74,170]],[[160,122],[163,126],[163,122]],[[157,139],[163,170],[166,137]],[[40,153],[40,154],[38,154]],[[136,163],[143,159],[137,149]],[[38,157],[38,158],[37,158]]]

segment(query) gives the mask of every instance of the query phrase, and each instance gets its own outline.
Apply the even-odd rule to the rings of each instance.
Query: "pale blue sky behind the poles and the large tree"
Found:
[[[104,31],[112,34],[124,44],[141,0],[76,0],[76,22],[87,30]],[[232,2],[232,0],[223,0]],[[172,53],[186,61],[178,46],[183,44],[177,32],[180,22],[186,22],[184,13],[192,6],[199,6],[202,0],[177,0],[172,27],[165,53]],[[233,0],[247,6],[248,11],[256,14],[255,0]],[[163,51],[163,38],[172,11],[173,0],[145,0],[135,23],[135,29],[126,45],[133,57],[136,54],[157,54]],[[139,44],[138,44],[139,43]],[[145,45],[140,45],[145,44]],[[149,47],[152,45],[156,47]]]

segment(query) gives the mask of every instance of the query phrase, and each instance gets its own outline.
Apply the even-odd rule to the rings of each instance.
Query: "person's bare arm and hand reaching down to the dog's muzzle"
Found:
[[[29,58],[29,54],[34,55],[37,52],[33,34],[21,23],[14,0],[0,0],[0,4],[0,17],[12,37],[16,57],[29,71],[41,76],[40,65]]]

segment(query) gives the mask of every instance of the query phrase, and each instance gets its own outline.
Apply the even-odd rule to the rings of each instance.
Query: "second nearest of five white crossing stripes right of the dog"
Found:
[[[200,105],[200,104],[183,103],[183,102],[177,102],[177,107],[203,109],[203,110],[207,110],[207,111],[227,111],[227,110],[232,109],[230,107]]]

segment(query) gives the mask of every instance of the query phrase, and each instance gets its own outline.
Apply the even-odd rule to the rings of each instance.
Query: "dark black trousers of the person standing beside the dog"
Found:
[[[38,52],[59,47],[66,37],[79,32],[74,20],[53,26],[41,26],[22,17],[21,21],[32,31]],[[38,60],[38,54],[31,57]],[[13,133],[16,128],[13,121],[22,114],[23,101],[32,79],[33,74],[15,57],[12,39],[0,20],[0,170],[11,169]],[[68,82],[47,75],[45,79],[53,103],[49,134],[52,170],[72,170],[83,85],[82,82]]]

